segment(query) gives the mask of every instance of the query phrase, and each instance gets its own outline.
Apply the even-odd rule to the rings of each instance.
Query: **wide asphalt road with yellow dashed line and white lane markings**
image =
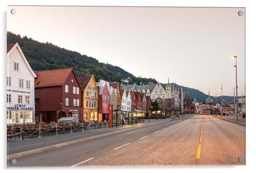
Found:
[[[243,162],[238,158],[243,157]],[[9,167],[245,165],[245,128],[210,115],[136,129],[17,159]]]

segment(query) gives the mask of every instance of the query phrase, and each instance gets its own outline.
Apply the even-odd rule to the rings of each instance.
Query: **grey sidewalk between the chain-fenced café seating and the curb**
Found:
[[[187,115],[187,118],[190,118],[191,116]],[[183,119],[185,117],[180,117],[176,119]],[[166,119],[150,119],[150,122],[148,122],[148,119],[145,119],[145,123],[138,123],[137,125],[124,125],[124,126],[118,126],[113,128],[101,128],[101,129],[92,129],[87,130],[84,132],[74,132],[74,133],[66,133],[62,135],[49,135],[41,138],[26,138],[24,140],[13,141],[13,142],[7,142],[7,155],[10,154],[16,154],[24,151],[30,151],[37,148],[43,148],[48,146],[53,146],[57,144],[67,143],[75,140],[83,140],[88,139],[92,140],[98,137],[103,137],[106,135],[112,135],[115,133],[125,132],[132,129],[138,129],[142,128],[143,126],[151,126],[155,124],[161,124],[164,122],[172,121],[171,118]],[[71,144],[66,144],[71,145]]]

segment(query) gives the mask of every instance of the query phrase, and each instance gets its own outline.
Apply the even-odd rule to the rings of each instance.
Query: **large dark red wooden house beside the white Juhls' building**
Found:
[[[72,68],[36,71],[35,74],[36,120],[57,122],[61,117],[82,120],[82,88]]]

